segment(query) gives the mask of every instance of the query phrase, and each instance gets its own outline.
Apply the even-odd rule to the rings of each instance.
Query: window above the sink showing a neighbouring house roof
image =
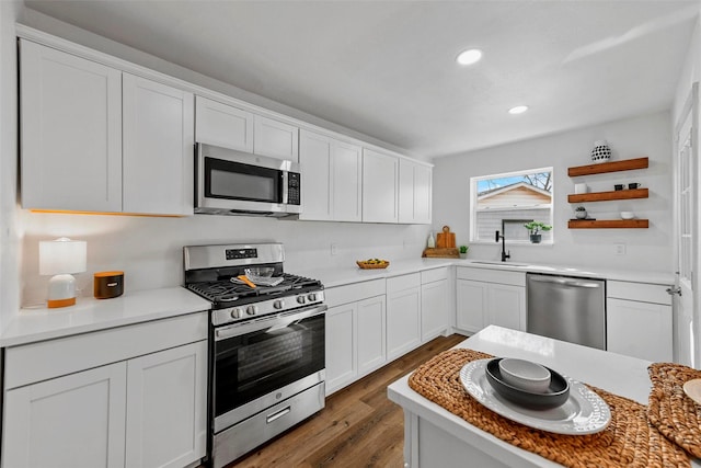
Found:
[[[494,242],[498,230],[508,241],[528,242],[524,224],[552,226],[552,168],[471,178],[470,241]],[[552,232],[539,232],[543,243],[552,243]]]

